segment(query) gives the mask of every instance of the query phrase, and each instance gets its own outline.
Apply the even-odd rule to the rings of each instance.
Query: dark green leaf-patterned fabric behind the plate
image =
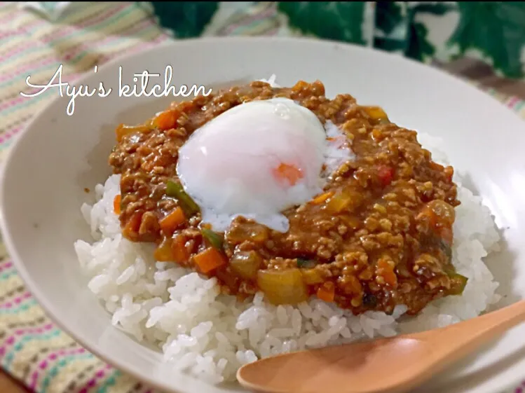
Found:
[[[267,2],[153,1],[176,37],[207,34],[219,13],[254,13]],[[275,1],[276,34],[312,35],[400,53],[422,62],[468,56],[510,78],[525,75],[523,1]]]

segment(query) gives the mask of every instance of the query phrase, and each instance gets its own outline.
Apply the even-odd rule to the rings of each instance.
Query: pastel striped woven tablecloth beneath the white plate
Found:
[[[275,34],[274,17],[263,7],[216,31]],[[140,3],[84,3],[81,10],[55,23],[21,11],[15,3],[0,3],[0,154],[53,94],[48,90],[29,99],[20,96],[28,91],[28,75],[33,83],[46,83],[63,64],[66,81],[71,81],[95,64],[170,39]],[[523,101],[489,94],[525,118]],[[39,393],[152,392],[57,329],[25,288],[1,243],[0,252],[0,364],[7,373]],[[522,390],[515,387],[511,392]]]

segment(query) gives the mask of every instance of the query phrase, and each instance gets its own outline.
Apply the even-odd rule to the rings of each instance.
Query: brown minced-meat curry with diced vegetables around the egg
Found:
[[[339,167],[310,202],[287,209],[287,233],[238,217],[225,233],[201,222],[177,178],[179,148],[200,126],[233,106],[287,97],[331,120],[355,159]],[[416,132],[350,95],[325,97],[321,82],[292,88],[253,82],[170,108],[143,125],[120,125],[109,156],[121,174],[115,201],[123,235],[155,242],[158,261],[217,277],[226,294],[261,290],[271,303],[315,295],[355,314],[415,314],[435,298],[461,294],[466,278],[451,265],[454,169],[432,160]]]

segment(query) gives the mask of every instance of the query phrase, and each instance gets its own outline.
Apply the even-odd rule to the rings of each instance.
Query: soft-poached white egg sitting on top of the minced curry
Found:
[[[247,102],[193,132],[179,149],[177,174],[213,230],[245,216],[286,232],[282,211],[322,192],[325,163],[333,169],[351,158],[348,146],[333,139],[291,99]]]

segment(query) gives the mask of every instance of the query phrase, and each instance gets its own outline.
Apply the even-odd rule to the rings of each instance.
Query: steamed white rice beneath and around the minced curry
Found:
[[[273,81],[275,82],[275,81]],[[419,135],[435,159],[446,163],[436,140]],[[212,384],[236,379],[243,364],[282,352],[346,343],[362,338],[423,331],[476,317],[496,303],[498,283],[483,258],[497,251],[499,240],[489,209],[481,198],[458,184],[453,263],[469,278],[462,296],[429,304],[420,315],[397,321],[393,315],[365,312],[353,316],[312,298],[296,307],[277,307],[262,294],[238,303],[219,295],[216,280],[154,261],[152,244],[137,244],[121,235],[113,200],[118,175],[95,187],[97,202],[81,212],[94,242],[74,244],[79,263],[90,277],[88,287],[112,315],[111,323],[143,343],[155,345],[173,367]]]

